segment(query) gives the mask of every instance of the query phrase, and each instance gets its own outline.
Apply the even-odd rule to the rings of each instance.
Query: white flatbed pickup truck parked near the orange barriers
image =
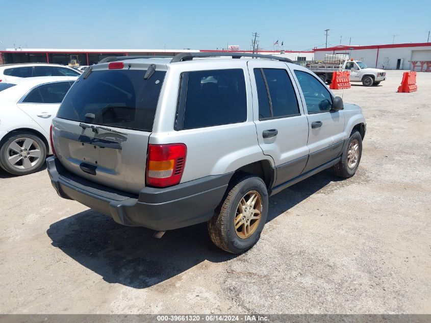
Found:
[[[328,83],[331,83],[335,71],[350,71],[350,82],[362,82],[364,86],[376,86],[386,80],[384,69],[370,68],[361,61],[337,54],[327,54],[324,61],[308,62],[306,67]]]

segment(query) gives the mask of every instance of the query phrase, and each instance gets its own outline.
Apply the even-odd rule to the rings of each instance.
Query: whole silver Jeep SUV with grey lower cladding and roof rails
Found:
[[[365,130],[360,107],[285,58],[114,57],[67,93],[47,167],[61,197],[122,225],[208,221],[217,246],[241,253],[260,237],[268,196],[329,167],[353,176]]]

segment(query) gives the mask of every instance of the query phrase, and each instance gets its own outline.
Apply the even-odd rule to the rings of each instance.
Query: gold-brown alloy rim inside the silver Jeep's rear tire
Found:
[[[262,216],[262,197],[257,191],[249,191],[238,203],[235,214],[235,232],[246,239],[256,231]]]

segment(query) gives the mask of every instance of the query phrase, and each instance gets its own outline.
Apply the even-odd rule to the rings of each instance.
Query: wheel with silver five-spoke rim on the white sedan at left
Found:
[[[31,132],[13,133],[0,148],[0,166],[12,175],[38,171],[45,162],[46,145]]]

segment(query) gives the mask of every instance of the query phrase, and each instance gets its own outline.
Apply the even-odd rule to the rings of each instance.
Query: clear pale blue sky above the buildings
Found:
[[[258,32],[260,48],[278,40],[305,51],[325,46],[325,29],[328,47],[391,44],[393,35],[426,42],[431,30],[431,0],[0,0],[0,8],[0,49],[250,49]]]

